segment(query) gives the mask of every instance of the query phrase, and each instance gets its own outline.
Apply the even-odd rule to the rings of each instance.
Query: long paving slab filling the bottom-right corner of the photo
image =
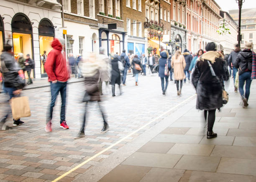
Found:
[[[255,182],[255,176],[187,170],[179,182]]]

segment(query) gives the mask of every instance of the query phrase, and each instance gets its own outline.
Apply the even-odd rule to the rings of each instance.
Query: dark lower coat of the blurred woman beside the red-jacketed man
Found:
[[[90,95],[90,101],[100,101],[100,92],[98,88],[98,82],[100,79],[100,71],[91,77],[84,77],[84,84],[86,92]]]

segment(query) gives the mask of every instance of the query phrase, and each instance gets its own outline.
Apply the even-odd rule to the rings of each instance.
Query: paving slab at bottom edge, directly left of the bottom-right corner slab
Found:
[[[152,168],[140,182],[179,182],[184,170]]]

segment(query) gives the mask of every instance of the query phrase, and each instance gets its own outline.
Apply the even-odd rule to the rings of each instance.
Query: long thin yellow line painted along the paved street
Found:
[[[196,95],[196,94],[195,94]],[[139,129],[135,130],[134,132],[130,133],[129,135],[127,135],[126,137],[118,140],[117,142],[115,142],[113,145],[110,145],[108,148],[105,148],[104,150],[100,151],[99,153],[97,153],[96,155],[90,157],[89,159],[87,159],[86,161],[82,162],[81,164],[77,165],[76,167],[74,167],[73,169],[69,170],[68,172],[64,173],[63,175],[61,175],[60,177],[57,177],[55,180],[53,180],[52,182],[57,182],[58,180],[62,179],[63,177],[69,175],[71,172],[77,170],[79,167],[82,167],[83,165],[85,165],[87,162],[90,162],[91,160],[93,160],[95,157],[98,157],[99,155],[103,154],[104,152],[108,151],[109,149],[111,149],[112,147],[114,147],[115,145],[119,144],[120,142],[122,142],[123,140],[127,139],[128,137],[131,137],[131,135],[135,134],[136,132],[138,132],[139,130],[142,130],[144,127],[148,126],[149,124],[151,124],[152,122],[154,122],[155,120],[157,120],[158,118],[166,115],[168,112],[174,110],[175,108],[179,107],[179,105],[182,105],[184,102],[187,102],[188,100],[190,100],[192,97],[195,97],[195,95],[192,95],[191,97],[187,98],[186,100],[180,102],[178,105],[176,105],[175,107],[172,107],[170,110],[164,112],[163,114],[159,115],[158,117],[156,117],[154,120],[152,120],[151,122],[148,122],[146,125],[143,125],[142,127],[140,127]]]

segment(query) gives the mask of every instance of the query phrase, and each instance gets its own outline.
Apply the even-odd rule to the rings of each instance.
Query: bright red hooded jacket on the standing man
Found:
[[[47,56],[47,61],[45,63],[45,71],[48,75],[48,81],[61,81],[67,82],[69,79],[69,72],[67,70],[66,58],[62,54],[62,45],[58,39],[54,38],[51,43],[51,50]]]

